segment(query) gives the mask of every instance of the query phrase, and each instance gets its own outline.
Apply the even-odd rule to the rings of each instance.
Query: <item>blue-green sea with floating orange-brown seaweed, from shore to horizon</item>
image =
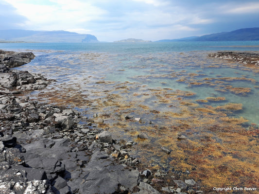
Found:
[[[208,54],[259,52],[259,41],[0,43],[0,49],[33,52],[35,59],[15,69],[52,80],[30,98],[75,108],[85,123],[97,113],[104,123],[96,126],[138,143],[130,155],[146,166],[207,188],[258,186],[259,68]],[[139,140],[140,133],[149,139]]]

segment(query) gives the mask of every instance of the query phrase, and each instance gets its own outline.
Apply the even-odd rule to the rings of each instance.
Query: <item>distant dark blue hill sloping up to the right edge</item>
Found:
[[[157,42],[172,41],[238,41],[238,40],[259,40],[259,28],[243,28],[231,32],[222,32],[211,35],[192,36],[173,40],[158,40]]]

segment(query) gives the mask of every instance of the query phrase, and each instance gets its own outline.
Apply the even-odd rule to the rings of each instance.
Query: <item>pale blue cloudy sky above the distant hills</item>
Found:
[[[99,41],[259,27],[259,0],[0,0],[0,30],[65,30]]]

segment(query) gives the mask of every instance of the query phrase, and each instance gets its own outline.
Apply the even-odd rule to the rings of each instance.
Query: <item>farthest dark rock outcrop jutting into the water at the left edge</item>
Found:
[[[30,63],[35,58],[34,53],[27,52],[12,52],[0,50],[0,64],[4,64],[8,68]]]

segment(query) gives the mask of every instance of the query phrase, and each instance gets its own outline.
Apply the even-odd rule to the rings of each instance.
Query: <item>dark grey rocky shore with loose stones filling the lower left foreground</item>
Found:
[[[95,124],[102,122],[98,115],[82,123],[76,110],[17,97],[49,81],[10,70],[9,61],[0,65],[1,194],[202,193],[193,179],[140,169],[141,161],[128,154],[136,142],[114,140]]]

